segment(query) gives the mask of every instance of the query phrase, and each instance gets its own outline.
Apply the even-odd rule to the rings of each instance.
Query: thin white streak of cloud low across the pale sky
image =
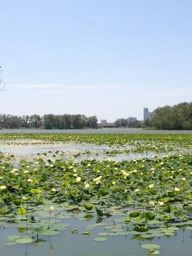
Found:
[[[120,93],[124,92],[124,95],[129,97],[137,97],[141,99],[161,98],[166,97],[178,97],[179,95],[184,98],[188,98],[189,92],[191,92],[191,86],[182,87],[166,87],[166,86],[150,86],[146,90],[146,86],[133,86],[130,84],[6,84],[4,91],[7,90],[22,90],[25,92],[41,92],[41,93],[62,93],[62,92],[102,92],[102,93]],[[128,94],[127,94],[128,93]]]

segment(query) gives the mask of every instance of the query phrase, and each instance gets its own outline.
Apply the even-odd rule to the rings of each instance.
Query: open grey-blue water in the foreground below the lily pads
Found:
[[[92,215],[92,214],[90,214]],[[61,232],[59,236],[32,236],[33,242],[28,244],[17,244],[15,246],[6,246],[3,241],[1,241],[1,250],[3,255],[7,256],[22,256],[22,255],[63,255],[65,252],[68,256],[82,255],[82,256],[96,256],[96,255],[122,255],[122,256],[131,256],[131,255],[154,255],[152,252],[148,253],[148,250],[144,250],[141,246],[143,244],[159,244],[159,255],[161,256],[184,256],[191,255],[191,237],[192,231],[186,230],[185,227],[181,227],[175,232],[175,236],[159,236],[159,237],[150,237],[143,239],[140,236],[132,236],[130,234],[125,235],[116,235],[116,227],[121,227],[122,231],[126,232],[127,227],[124,226],[124,223],[114,221],[114,218],[118,220],[121,216],[113,216],[108,219],[102,220],[100,225],[96,225],[97,221],[96,216],[89,218],[87,216],[86,220],[79,220],[78,216],[68,219],[67,222],[70,224],[70,227],[67,230]],[[65,223],[66,220],[62,220],[61,223]],[[72,230],[77,230],[77,232],[72,232]],[[88,230],[90,236],[83,236],[83,232]],[[113,236],[109,236],[111,231],[114,230]],[[16,230],[13,227],[4,227],[1,228],[0,234],[1,237],[4,235],[9,236],[17,235],[22,233],[23,230],[19,228]],[[25,230],[26,231],[26,230]],[[95,237],[100,237],[102,232],[107,232],[108,235],[107,241],[97,242]],[[25,248],[25,249],[24,249]]]

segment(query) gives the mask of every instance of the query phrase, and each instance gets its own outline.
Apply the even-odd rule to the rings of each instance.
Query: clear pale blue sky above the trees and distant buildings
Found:
[[[0,0],[0,113],[113,122],[192,99],[191,0]]]

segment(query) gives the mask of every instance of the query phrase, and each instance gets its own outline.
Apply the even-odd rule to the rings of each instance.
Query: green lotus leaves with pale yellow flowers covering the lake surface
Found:
[[[1,134],[0,140],[5,139],[10,143],[15,139],[130,143],[139,148],[142,141],[143,151],[156,147],[170,152],[178,145],[191,148],[190,134]],[[49,153],[39,154],[33,161],[12,161],[14,156],[0,155],[0,223],[17,227],[20,233],[8,236],[6,245],[41,244],[46,236],[68,230],[70,223],[63,221],[74,218],[95,221],[84,230],[70,229],[70,234],[92,237],[93,243],[107,241],[111,236],[148,241],[176,236],[180,228],[192,230],[190,152],[132,161],[79,162],[58,159],[59,150],[52,157],[47,157]],[[92,230],[98,227],[102,230],[94,238]],[[158,244],[141,247],[149,255],[159,254]]]

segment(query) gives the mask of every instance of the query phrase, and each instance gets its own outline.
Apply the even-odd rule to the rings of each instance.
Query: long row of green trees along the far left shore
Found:
[[[85,115],[1,115],[1,129],[84,129],[96,128],[97,117]]]

